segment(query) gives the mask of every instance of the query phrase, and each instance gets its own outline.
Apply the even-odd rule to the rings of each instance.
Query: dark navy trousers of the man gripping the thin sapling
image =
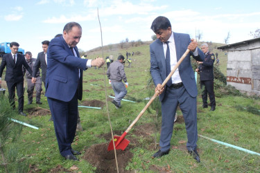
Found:
[[[78,119],[78,92],[69,102],[48,98],[53,125],[55,129],[60,154],[71,154],[71,143],[75,137]]]

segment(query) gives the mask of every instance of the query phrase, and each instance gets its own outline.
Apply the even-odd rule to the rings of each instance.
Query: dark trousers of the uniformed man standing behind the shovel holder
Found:
[[[211,107],[216,107],[215,93],[214,93],[214,80],[201,80],[200,88],[202,91],[203,106],[207,106],[207,94],[209,94],[209,100]]]

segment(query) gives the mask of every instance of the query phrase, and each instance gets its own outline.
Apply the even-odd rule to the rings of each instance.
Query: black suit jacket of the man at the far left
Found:
[[[12,59],[12,54],[8,53],[3,55],[3,60],[0,66],[0,78],[3,74],[3,69],[6,67],[6,82],[21,82],[24,80],[23,74],[23,66],[27,69],[27,71],[32,74],[30,66],[28,66],[24,55],[17,53],[17,62],[15,63]]]

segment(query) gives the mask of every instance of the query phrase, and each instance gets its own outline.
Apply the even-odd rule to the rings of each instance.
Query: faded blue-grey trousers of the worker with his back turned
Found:
[[[125,84],[123,82],[111,82],[112,89],[114,90],[114,101],[121,105],[121,100],[125,97],[126,91]]]

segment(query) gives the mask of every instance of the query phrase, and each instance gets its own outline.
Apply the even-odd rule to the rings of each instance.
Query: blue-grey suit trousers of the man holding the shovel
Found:
[[[161,151],[165,152],[171,148],[173,124],[178,104],[185,120],[188,138],[187,149],[189,151],[196,149],[198,140],[196,97],[191,97],[184,86],[181,86],[179,89],[166,86],[165,92],[162,100],[162,129],[159,139]]]

